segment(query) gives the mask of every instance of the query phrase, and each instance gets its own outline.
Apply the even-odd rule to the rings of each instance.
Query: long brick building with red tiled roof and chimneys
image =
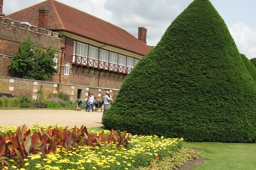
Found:
[[[106,89],[115,95],[127,74],[150,51],[144,27],[139,27],[135,38],[120,27],[55,0],[7,16],[2,8],[0,0],[0,78],[4,84],[10,80],[0,92],[18,94],[24,88],[29,94],[32,90],[35,98],[37,86],[44,84],[47,94],[63,92],[71,98],[86,98],[89,92],[100,97],[101,90]],[[21,83],[20,77],[8,71],[21,40],[29,36],[36,47],[46,49],[52,45],[57,50],[58,73],[47,85],[36,80]]]

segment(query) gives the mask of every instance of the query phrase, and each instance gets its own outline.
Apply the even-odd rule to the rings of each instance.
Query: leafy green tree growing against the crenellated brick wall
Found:
[[[56,66],[55,51],[51,46],[46,51],[35,48],[34,42],[29,37],[20,43],[20,48],[8,65],[8,69],[23,79],[47,80],[57,72],[54,67]]]

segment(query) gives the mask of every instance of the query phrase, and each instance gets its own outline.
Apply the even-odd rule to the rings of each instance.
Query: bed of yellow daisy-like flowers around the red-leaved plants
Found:
[[[28,127],[28,129],[31,130],[31,133],[37,132],[42,130],[39,126],[40,125],[36,124],[33,127]],[[61,126],[58,127],[60,130]],[[15,127],[8,128],[15,130]],[[5,134],[8,131],[8,128],[1,127],[0,133]],[[46,126],[44,129],[47,130]],[[47,133],[49,133],[49,128]],[[89,130],[87,136],[90,135],[89,133],[97,133],[97,136],[102,134],[102,132]],[[111,134],[113,135],[114,133],[113,131],[104,130],[104,134],[111,136]],[[121,133],[121,136],[123,135],[126,136],[126,133]],[[119,140],[120,143],[117,143],[115,140],[108,140],[101,144],[98,142],[89,146],[82,144],[77,147],[73,146],[70,149],[57,145],[56,148],[52,150],[53,152],[47,154],[42,154],[40,152],[36,154],[28,154],[25,159],[17,159],[15,157],[13,157],[14,159],[10,159],[10,157],[9,159],[5,159],[5,162],[2,161],[1,164],[5,164],[5,166],[3,166],[5,169],[20,170],[133,170],[141,167],[147,168],[150,166],[152,167],[152,165],[155,166],[157,165],[157,162],[161,162],[163,159],[173,157],[174,155],[177,155],[177,153],[182,153],[184,151],[182,148],[183,139],[164,138],[163,136],[137,136],[131,134],[127,134],[126,139],[128,135],[130,137],[130,141],[127,140],[128,144],[120,144],[124,142],[124,140]],[[174,163],[174,165],[176,164]]]

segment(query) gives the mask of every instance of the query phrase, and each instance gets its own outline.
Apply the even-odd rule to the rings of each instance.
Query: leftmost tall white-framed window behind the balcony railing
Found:
[[[87,64],[87,49],[88,49],[88,45],[87,44],[83,44],[80,42],[77,42],[77,63],[79,64]]]

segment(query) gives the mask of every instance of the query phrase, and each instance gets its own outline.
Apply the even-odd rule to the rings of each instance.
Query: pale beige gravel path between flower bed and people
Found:
[[[103,112],[86,112],[75,110],[49,110],[49,109],[0,109],[0,125],[31,126],[33,123],[45,124],[62,124],[69,125],[73,128],[75,125],[87,128],[102,127],[101,117]]]

